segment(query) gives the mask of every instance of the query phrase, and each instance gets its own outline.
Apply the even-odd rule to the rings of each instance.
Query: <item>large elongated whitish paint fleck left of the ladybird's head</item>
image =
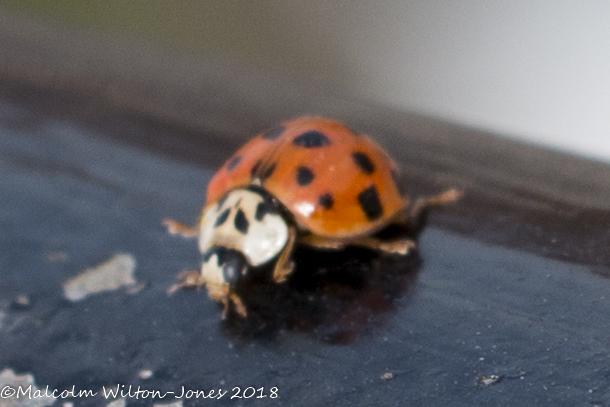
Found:
[[[135,286],[135,269],[136,259],[131,254],[116,254],[110,260],[66,281],[64,296],[70,301],[80,301],[91,294]]]

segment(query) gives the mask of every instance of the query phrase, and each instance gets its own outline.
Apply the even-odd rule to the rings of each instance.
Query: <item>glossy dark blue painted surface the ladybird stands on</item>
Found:
[[[221,322],[203,290],[166,295],[199,254],[161,220],[194,222],[233,146],[202,135],[196,165],[160,152],[183,129],[121,115],[105,126],[95,109],[57,115],[44,100],[0,100],[0,371],[100,392],[75,405],[106,405],[101,389],[116,384],[228,391],[184,405],[610,405],[608,267],[543,257],[525,232],[544,236],[535,219],[511,229],[527,250],[467,233],[493,219],[459,207],[432,214],[408,259],[299,250],[289,283],[253,276],[250,318]],[[117,254],[135,259],[135,285],[64,297]],[[256,393],[231,400],[235,387]]]

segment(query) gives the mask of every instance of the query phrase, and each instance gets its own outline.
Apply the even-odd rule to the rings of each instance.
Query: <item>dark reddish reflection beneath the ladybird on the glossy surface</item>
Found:
[[[280,331],[303,331],[324,342],[350,343],[394,310],[421,264],[415,252],[385,257],[356,248],[339,253],[299,248],[294,260],[296,269],[285,284],[274,284],[270,270],[259,269],[237,288],[249,314],[225,321],[229,336],[272,340]]]

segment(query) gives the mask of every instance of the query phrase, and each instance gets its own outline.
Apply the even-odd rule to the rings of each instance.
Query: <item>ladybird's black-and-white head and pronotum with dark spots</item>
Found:
[[[229,286],[237,283],[248,267],[276,258],[288,236],[279,204],[265,192],[235,189],[208,206],[199,228],[199,249],[204,258],[202,276],[210,294],[226,296]]]

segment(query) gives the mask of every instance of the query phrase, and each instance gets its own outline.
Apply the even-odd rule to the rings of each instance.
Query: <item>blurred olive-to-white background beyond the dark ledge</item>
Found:
[[[610,161],[610,2],[0,0]]]

